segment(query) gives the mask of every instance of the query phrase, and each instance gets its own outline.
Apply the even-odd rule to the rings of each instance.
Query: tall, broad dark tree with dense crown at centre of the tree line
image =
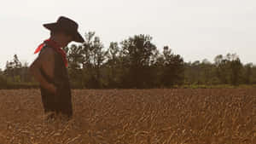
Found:
[[[127,67],[123,82],[129,88],[147,88],[154,82],[150,67],[156,46],[149,35],[136,35],[122,43],[123,66]]]

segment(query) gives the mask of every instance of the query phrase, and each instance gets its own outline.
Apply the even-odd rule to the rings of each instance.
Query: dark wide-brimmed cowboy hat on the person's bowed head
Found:
[[[78,32],[79,25],[67,17],[61,16],[56,22],[44,24],[43,26],[52,32],[60,30],[67,32],[73,37],[73,41],[84,43],[84,38]]]

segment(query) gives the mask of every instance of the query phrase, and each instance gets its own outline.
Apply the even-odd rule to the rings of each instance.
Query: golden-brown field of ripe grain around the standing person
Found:
[[[46,123],[38,89],[0,90],[0,144],[256,143],[256,89],[73,90],[73,112]]]

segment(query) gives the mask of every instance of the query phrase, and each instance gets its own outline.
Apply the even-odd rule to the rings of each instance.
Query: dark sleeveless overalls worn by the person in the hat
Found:
[[[44,49],[52,49],[45,46]],[[42,49],[41,51],[43,51]],[[40,55],[40,54],[39,54]],[[61,54],[55,52],[55,68],[54,78],[49,78],[43,69],[41,69],[42,75],[50,83],[56,87],[56,94],[52,94],[49,90],[40,87],[42,101],[44,106],[44,112],[57,112],[68,117],[72,117],[72,96],[69,78],[67,74],[67,67],[62,60]]]

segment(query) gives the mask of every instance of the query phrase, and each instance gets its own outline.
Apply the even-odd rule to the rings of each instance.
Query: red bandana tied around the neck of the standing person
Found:
[[[58,43],[56,43],[55,41],[51,40],[51,39],[47,39],[44,41],[44,43],[41,43],[38,46],[38,49],[36,49],[36,51],[34,52],[34,54],[37,54],[41,49],[44,48],[45,45],[48,45],[49,47],[55,49],[55,51],[59,54],[61,54],[61,57],[64,61],[65,66],[67,66],[67,55],[66,52],[61,49],[60,45]]]

